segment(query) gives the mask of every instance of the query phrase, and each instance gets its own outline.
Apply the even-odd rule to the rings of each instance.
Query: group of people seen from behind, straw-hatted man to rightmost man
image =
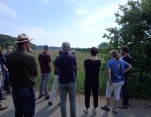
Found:
[[[34,77],[37,76],[37,64],[30,49],[30,39],[26,34],[18,35],[16,41],[17,48],[6,57],[7,71],[12,87],[12,97],[15,107],[15,117],[33,117],[35,113],[35,91]],[[30,51],[29,51],[30,50]],[[109,111],[113,106],[113,112],[117,113],[118,107],[127,108],[129,97],[127,90],[128,71],[132,68],[131,57],[128,48],[122,47],[121,54],[117,50],[110,51],[110,59],[107,62],[107,85],[106,85],[106,105],[101,106],[102,110]],[[83,112],[89,113],[90,95],[93,94],[93,113],[97,113],[99,94],[99,74],[101,60],[97,57],[98,49],[92,47],[90,57],[84,61],[85,80],[85,108]],[[62,50],[54,61],[51,61],[49,47],[44,46],[44,52],[39,54],[40,65],[40,86],[39,99],[44,96],[48,105],[52,106],[59,89],[60,109],[62,117],[66,114],[66,97],[69,94],[70,116],[76,117],[76,81],[77,81],[77,61],[75,51],[70,51],[70,43],[63,42]],[[49,95],[48,83],[51,76],[52,65],[54,66],[54,81]],[[123,103],[119,105],[120,92],[122,89]],[[111,105],[111,94],[114,91],[115,103]],[[0,105],[1,107],[1,105]]]

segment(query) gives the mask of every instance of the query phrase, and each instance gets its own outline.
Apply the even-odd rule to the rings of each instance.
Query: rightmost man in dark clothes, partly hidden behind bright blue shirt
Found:
[[[132,58],[128,54],[128,48],[126,46],[123,46],[121,48],[121,59],[124,60],[125,62],[131,64],[132,63]],[[129,94],[128,94],[128,89],[127,89],[127,84],[128,84],[128,75],[129,72],[124,73],[124,85],[122,86],[122,97],[123,97],[123,102],[122,105],[119,106],[119,108],[128,108],[129,106]]]

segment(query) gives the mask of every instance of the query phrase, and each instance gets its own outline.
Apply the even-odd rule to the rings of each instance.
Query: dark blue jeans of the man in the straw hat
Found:
[[[35,114],[35,91],[33,88],[12,88],[15,117],[33,117]]]

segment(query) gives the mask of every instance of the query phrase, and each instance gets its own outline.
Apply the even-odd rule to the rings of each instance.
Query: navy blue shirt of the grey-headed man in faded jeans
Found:
[[[75,56],[68,53],[63,53],[56,58],[55,67],[59,70],[60,84],[75,82],[76,64]]]

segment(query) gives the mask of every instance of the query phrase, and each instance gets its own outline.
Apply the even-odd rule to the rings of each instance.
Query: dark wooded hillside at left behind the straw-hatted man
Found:
[[[0,46],[2,48],[7,48],[8,46],[16,47],[16,44],[14,43],[16,40],[16,37],[0,34]],[[31,43],[31,48],[36,49],[36,45]]]

